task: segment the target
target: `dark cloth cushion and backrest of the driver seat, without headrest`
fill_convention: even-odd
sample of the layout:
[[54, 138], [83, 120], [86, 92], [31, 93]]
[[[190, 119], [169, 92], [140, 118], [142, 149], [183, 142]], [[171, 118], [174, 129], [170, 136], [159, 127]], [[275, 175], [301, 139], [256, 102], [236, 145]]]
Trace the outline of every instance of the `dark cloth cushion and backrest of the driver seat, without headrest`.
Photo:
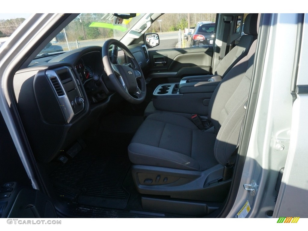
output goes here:
[[237, 147], [256, 43], [257, 40], [248, 55], [225, 75], [213, 92], [208, 115], [213, 129], [201, 131], [181, 115], [149, 115], [128, 146], [131, 162], [195, 171], [203, 171], [218, 163], [225, 165]]

